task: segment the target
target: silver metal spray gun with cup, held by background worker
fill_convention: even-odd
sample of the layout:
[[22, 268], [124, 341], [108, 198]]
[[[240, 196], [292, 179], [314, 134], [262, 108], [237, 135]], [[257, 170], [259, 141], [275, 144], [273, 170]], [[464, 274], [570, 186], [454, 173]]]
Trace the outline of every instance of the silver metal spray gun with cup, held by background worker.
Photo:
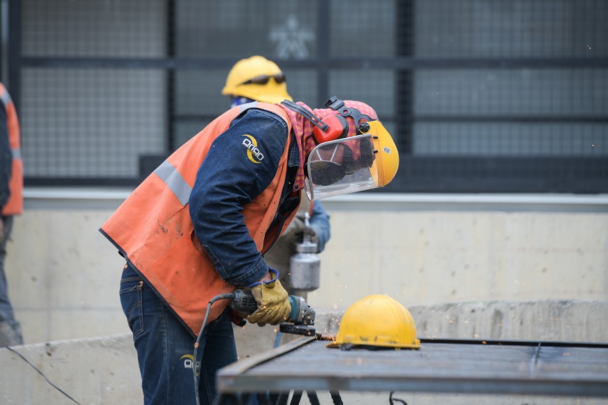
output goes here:
[[295, 244], [295, 255], [290, 258], [291, 288], [299, 291], [314, 291], [319, 288], [321, 259], [317, 255], [317, 243], [311, 241], [313, 228], [310, 214], [304, 213], [304, 239]]

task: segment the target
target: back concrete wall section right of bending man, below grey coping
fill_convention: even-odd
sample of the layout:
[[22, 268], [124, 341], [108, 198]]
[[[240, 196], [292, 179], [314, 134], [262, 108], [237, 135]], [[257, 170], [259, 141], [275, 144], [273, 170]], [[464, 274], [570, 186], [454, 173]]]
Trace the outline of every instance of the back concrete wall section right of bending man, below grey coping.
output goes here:
[[311, 304], [608, 298], [608, 215], [336, 212]]

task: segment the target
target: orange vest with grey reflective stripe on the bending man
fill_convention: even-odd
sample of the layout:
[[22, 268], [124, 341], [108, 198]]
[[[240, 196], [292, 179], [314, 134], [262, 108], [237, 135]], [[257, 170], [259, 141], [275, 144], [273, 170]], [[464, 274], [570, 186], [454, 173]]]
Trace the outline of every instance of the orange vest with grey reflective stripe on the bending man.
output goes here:
[[[288, 133], [291, 132], [291, 122], [281, 107], [258, 103], [257, 108], [277, 114], [286, 121]], [[230, 293], [235, 287], [220, 278], [213, 261], [198, 241], [188, 209], [189, 195], [196, 172], [211, 144], [227, 130], [241, 110], [236, 107], [228, 110], [177, 149], [133, 191], [100, 229], [194, 336], [200, 331], [211, 298]], [[294, 209], [280, 230], [269, 231], [286, 180], [288, 150], [289, 141], [275, 178], [257, 198], [243, 206], [249, 234], [262, 253], [270, 248], [279, 236], [277, 233], [282, 233], [297, 213]], [[227, 304], [227, 300], [214, 303], [208, 322], [218, 318]]]

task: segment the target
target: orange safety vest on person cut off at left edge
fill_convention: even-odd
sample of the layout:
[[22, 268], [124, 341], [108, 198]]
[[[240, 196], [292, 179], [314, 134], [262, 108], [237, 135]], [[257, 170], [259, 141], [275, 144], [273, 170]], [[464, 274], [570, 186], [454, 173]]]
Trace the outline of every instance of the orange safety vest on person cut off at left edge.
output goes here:
[[23, 160], [21, 159], [21, 135], [17, 110], [6, 87], [0, 83], [0, 100], [6, 110], [6, 126], [8, 127], [8, 141], [12, 152], [12, 169], [10, 172], [10, 196], [2, 207], [2, 215], [17, 215], [23, 212]]

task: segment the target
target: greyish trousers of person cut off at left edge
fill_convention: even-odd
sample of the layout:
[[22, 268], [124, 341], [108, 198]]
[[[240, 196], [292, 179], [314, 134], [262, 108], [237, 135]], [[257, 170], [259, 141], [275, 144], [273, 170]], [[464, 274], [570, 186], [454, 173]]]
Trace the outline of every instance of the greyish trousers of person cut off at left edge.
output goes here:
[[6, 241], [12, 230], [13, 216], [2, 216], [3, 235], [0, 234], [0, 347], [22, 345], [21, 327], [15, 320], [15, 313], [8, 299], [8, 284], [4, 273], [4, 259], [6, 259]]

